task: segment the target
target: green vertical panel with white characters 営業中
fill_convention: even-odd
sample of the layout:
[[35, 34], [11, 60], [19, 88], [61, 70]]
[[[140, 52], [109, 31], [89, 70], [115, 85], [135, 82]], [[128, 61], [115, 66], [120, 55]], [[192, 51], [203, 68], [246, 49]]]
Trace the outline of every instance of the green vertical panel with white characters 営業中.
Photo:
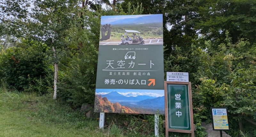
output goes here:
[[188, 85], [167, 84], [168, 127], [190, 130]]

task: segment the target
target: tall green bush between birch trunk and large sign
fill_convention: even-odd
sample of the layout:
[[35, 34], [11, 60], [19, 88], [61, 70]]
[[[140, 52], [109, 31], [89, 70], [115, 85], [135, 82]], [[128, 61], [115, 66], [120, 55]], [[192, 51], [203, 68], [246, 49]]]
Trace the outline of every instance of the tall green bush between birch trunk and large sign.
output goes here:
[[100, 19], [97, 14], [87, 12], [88, 29], [80, 29], [84, 24], [74, 20], [70, 30], [68, 46], [77, 46], [71, 55], [71, 61], [65, 72], [59, 73], [58, 96], [72, 107], [80, 107], [83, 103], [94, 104], [95, 83], [99, 47]]

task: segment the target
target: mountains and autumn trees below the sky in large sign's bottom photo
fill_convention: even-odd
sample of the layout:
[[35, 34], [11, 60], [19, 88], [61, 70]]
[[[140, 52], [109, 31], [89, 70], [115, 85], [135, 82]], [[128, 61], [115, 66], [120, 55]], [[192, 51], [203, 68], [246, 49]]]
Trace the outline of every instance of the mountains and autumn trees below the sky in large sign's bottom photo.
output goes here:
[[[117, 91], [112, 91], [103, 95], [100, 95], [99, 93], [96, 94], [98, 95], [95, 96], [95, 106], [97, 107], [97, 110], [101, 112], [104, 110], [104, 112], [155, 114], [155, 112], [159, 110], [160, 114], [164, 113], [164, 96], [125, 96]], [[96, 100], [103, 101], [97, 102]], [[122, 108], [127, 108], [127, 110], [122, 110]]]

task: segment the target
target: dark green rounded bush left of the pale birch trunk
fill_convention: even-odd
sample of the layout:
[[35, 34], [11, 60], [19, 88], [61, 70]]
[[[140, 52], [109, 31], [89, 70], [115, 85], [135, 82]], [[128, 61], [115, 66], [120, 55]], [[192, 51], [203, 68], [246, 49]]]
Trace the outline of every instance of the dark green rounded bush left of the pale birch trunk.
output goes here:
[[45, 44], [29, 40], [22, 40], [17, 47], [2, 50], [0, 79], [5, 80], [10, 88], [46, 93], [52, 83], [47, 50]]

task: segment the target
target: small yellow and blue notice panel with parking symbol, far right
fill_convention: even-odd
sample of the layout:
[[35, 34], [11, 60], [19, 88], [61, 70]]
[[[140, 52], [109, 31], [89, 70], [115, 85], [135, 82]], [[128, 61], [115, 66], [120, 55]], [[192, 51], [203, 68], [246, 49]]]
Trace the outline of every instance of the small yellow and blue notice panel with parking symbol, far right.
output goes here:
[[212, 129], [229, 130], [227, 107], [211, 107]]

